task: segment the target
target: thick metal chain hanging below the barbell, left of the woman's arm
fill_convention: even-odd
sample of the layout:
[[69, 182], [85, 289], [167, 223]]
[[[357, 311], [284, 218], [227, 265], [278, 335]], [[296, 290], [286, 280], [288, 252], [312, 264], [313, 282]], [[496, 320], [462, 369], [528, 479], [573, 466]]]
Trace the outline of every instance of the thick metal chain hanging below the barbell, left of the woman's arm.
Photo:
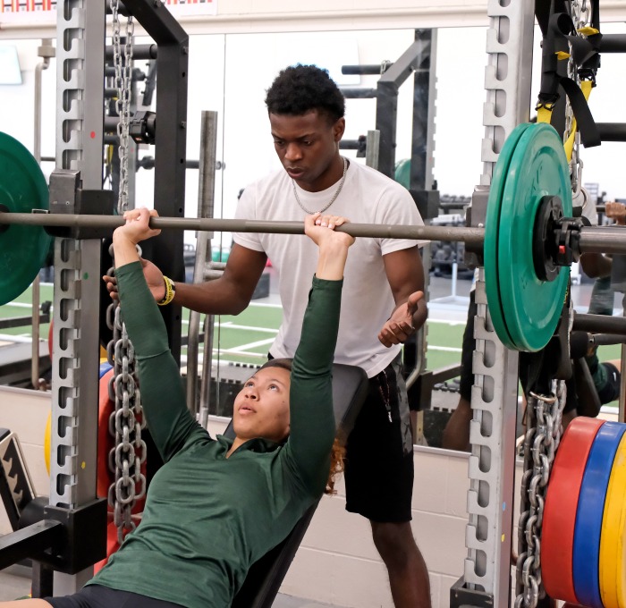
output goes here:
[[[111, 275], [114, 268], [109, 268]], [[109, 398], [115, 409], [109, 417], [109, 433], [115, 445], [108, 454], [109, 469], [115, 481], [108, 490], [108, 503], [114, 510], [117, 539], [135, 528], [132, 507], [146, 494], [146, 477], [141, 464], [146, 460], [146, 443], [141, 439], [145, 418], [141, 409], [140, 389], [135, 376], [135, 351], [120, 317], [119, 304], [106, 308], [106, 325], [113, 330], [113, 340], [106, 346], [106, 358], [114, 366], [109, 380]]]

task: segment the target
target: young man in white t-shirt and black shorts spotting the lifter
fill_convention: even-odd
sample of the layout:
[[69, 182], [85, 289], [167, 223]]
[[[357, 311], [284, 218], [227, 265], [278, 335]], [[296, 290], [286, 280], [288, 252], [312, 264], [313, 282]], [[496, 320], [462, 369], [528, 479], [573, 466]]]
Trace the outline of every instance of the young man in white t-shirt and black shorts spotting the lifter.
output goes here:
[[[382, 173], [339, 154], [345, 103], [326, 70], [288, 67], [267, 90], [275, 151], [283, 169], [246, 187], [236, 217], [302, 221], [321, 211], [355, 224], [423, 224], [410, 194]], [[266, 260], [279, 274], [283, 324], [270, 357], [292, 357], [300, 340], [315, 248], [300, 235], [235, 233], [223, 276], [200, 285], [177, 284], [148, 263], [157, 300], [203, 313], [237, 315], [250, 303]], [[402, 380], [401, 343], [427, 317], [418, 241], [357, 240], [345, 269], [342, 317], [334, 360], [363, 367], [369, 396], [346, 457], [346, 509], [369, 519], [398, 608], [429, 608], [426, 563], [410, 528], [413, 450]], [[166, 294], [172, 294], [165, 298]], [[412, 295], [411, 295], [412, 294]]]

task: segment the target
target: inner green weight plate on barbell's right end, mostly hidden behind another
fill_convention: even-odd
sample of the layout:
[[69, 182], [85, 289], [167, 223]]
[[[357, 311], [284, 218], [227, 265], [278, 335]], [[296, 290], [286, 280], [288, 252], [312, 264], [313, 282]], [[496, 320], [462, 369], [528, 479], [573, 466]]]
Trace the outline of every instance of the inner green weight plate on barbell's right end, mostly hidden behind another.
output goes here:
[[500, 296], [500, 279], [498, 274], [499, 225], [504, 183], [509, 173], [509, 165], [511, 165], [512, 155], [520, 141], [520, 137], [528, 128], [529, 122], [522, 122], [513, 129], [511, 135], [504, 141], [503, 148], [495, 163], [486, 206], [484, 245], [486, 300], [495, 333], [498, 334], [500, 341], [509, 348], [515, 348], [515, 346], [504, 321]]

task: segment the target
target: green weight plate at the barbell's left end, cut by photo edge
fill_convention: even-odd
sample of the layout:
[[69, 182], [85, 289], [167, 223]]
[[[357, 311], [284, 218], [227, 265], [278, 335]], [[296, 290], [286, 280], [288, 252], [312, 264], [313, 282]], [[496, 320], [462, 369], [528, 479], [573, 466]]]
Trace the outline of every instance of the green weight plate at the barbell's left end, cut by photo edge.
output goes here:
[[[0, 205], [12, 213], [48, 208], [46, 178], [37, 161], [17, 139], [2, 132], [0, 167]], [[0, 232], [0, 305], [28, 288], [49, 247], [50, 236], [41, 226], [12, 224]]]

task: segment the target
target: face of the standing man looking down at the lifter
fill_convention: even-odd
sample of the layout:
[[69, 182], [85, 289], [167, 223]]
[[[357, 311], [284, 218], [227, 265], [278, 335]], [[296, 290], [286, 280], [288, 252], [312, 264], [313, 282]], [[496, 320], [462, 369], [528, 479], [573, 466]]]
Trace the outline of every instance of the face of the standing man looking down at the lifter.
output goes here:
[[303, 190], [326, 190], [337, 177], [329, 171], [337, 156], [345, 121], [332, 123], [326, 114], [269, 114], [276, 154], [289, 176]]

